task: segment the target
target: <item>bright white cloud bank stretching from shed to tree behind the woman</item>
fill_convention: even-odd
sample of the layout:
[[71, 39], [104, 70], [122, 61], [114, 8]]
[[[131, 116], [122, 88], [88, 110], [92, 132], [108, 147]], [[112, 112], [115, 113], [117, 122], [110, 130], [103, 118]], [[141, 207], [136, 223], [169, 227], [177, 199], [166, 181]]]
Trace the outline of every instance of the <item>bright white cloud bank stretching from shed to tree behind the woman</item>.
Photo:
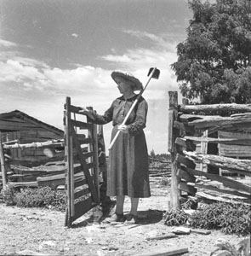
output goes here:
[[[116, 67], [134, 73], [145, 85], [150, 67], [160, 69], [159, 79], [151, 79], [144, 97], [149, 104], [148, 123], [145, 134], [150, 148], [163, 148], [166, 141], [168, 124], [167, 108], [168, 90], [177, 90], [177, 83], [170, 64], [176, 61], [175, 44], [164, 36], [147, 32], [127, 31], [133, 37], [151, 42], [149, 48], [127, 49], [117, 54], [112, 48], [109, 55], [100, 56], [108, 63], [107, 67]], [[73, 34], [72, 34], [73, 36]], [[74, 37], [74, 36], [73, 36]], [[9, 49], [16, 44], [7, 42]], [[1, 44], [0, 42], [0, 44]], [[5, 41], [4, 41], [5, 42]], [[0, 101], [2, 112], [20, 109], [25, 113], [41, 119], [48, 124], [63, 129], [62, 115], [66, 96], [71, 97], [75, 106], [93, 106], [98, 113], [104, 113], [111, 102], [119, 96], [114, 90], [116, 84], [111, 79], [111, 69], [93, 66], [75, 65], [74, 68], [50, 67], [48, 63], [21, 55], [17, 51], [0, 53]], [[160, 122], [161, 120], [161, 122]], [[164, 124], [164, 125], [163, 125]], [[111, 125], [105, 125], [106, 144], [110, 140]], [[164, 134], [164, 137], [157, 137]], [[155, 138], [154, 142], [152, 137]]]

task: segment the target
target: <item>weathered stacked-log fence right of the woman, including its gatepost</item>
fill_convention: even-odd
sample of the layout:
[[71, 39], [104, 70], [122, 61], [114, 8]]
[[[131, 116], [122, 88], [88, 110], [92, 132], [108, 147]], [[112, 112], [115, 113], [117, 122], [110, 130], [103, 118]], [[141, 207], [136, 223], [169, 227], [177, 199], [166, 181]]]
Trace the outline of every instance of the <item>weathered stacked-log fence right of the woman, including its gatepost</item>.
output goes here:
[[250, 204], [251, 104], [178, 106], [168, 93], [171, 207], [187, 198]]

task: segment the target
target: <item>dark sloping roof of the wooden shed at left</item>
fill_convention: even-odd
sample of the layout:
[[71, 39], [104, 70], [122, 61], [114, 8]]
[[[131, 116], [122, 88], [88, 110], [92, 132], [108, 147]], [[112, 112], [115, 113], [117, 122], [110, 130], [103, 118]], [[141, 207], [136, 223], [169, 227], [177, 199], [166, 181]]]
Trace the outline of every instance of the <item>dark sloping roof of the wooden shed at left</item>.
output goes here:
[[45, 130], [52, 131], [60, 136], [64, 135], [64, 131], [59, 128], [35, 119], [20, 110], [0, 113], [0, 131], [26, 131], [40, 127]]

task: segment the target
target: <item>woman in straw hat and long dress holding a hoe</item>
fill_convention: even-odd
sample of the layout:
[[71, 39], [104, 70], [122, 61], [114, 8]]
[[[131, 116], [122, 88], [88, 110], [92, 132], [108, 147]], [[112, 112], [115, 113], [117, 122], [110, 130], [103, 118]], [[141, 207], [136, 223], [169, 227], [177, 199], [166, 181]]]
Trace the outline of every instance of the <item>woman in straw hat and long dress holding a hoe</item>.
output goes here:
[[[117, 88], [123, 96], [112, 102], [111, 107], [103, 115], [94, 111], [88, 112], [95, 124], [104, 125], [112, 121], [111, 140], [117, 131], [121, 131], [116, 143], [109, 153], [109, 167], [107, 172], [108, 196], [117, 196], [116, 211], [110, 222], [123, 222], [123, 203], [125, 195], [131, 199], [131, 210], [126, 223], [137, 222], [137, 209], [140, 197], [149, 197], [148, 152], [145, 143], [145, 128], [147, 102], [140, 96], [134, 110], [130, 113], [125, 125], [122, 125], [130, 107], [137, 95], [134, 90], [141, 90], [139, 79], [128, 73], [112, 72], [111, 78], [117, 83]], [[83, 113], [88, 111], [83, 108]]]

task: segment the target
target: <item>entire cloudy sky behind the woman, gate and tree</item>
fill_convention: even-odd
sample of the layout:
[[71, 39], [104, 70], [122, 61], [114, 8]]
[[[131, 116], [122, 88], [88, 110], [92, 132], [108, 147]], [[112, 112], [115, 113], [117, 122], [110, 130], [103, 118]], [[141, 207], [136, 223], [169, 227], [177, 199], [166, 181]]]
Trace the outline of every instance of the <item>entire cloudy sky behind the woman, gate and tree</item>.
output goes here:
[[[0, 113], [18, 109], [63, 129], [66, 96], [104, 113], [121, 96], [111, 72], [145, 86], [149, 153], [168, 153], [170, 65], [192, 18], [187, 0], [0, 0]], [[181, 96], [179, 92], [179, 102]], [[111, 124], [104, 125], [106, 148]]]

